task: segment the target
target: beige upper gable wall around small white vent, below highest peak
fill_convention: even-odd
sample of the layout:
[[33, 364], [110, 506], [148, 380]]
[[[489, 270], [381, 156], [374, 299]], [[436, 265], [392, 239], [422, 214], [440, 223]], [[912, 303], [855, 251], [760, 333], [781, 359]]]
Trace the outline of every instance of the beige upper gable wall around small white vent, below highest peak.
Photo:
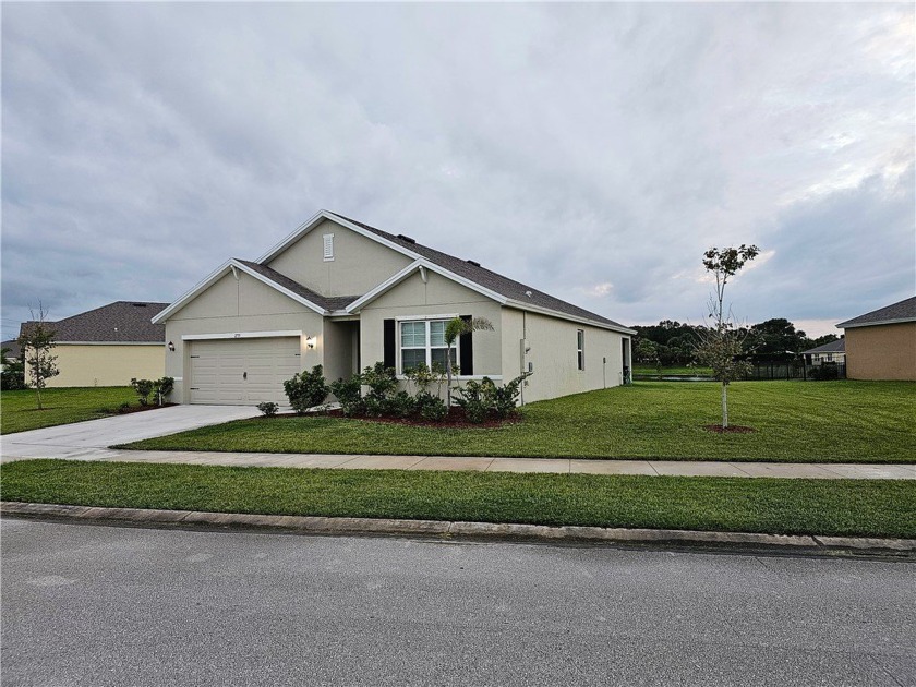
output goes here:
[[[334, 260], [324, 260], [324, 234], [334, 234]], [[268, 263], [323, 296], [362, 296], [407, 267], [406, 255], [325, 220]]]

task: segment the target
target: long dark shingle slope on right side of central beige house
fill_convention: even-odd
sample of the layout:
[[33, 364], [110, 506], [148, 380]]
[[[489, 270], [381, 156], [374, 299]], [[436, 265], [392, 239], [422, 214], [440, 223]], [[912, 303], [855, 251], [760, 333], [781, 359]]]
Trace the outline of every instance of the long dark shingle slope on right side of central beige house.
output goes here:
[[[549, 293], [539, 291], [538, 289], [526, 286], [519, 281], [504, 277], [503, 275], [496, 274], [485, 267], [481, 267], [477, 263], [471, 263], [466, 260], [461, 260], [460, 257], [455, 257], [454, 255], [448, 255], [447, 253], [422, 245], [403, 234], [396, 236], [388, 233], [387, 231], [376, 229], [375, 227], [357, 221], [355, 219], [350, 219], [343, 215], [339, 215], [337, 213], [332, 214], [336, 215], [340, 219], [345, 219], [353, 225], [357, 225], [366, 231], [371, 231], [375, 236], [382, 237], [391, 243], [407, 249], [408, 251], [412, 251], [418, 255], [425, 257], [431, 263], [434, 263], [439, 267], [444, 267], [459, 277], [465, 277], [466, 279], [490, 289], [491, 291], [495, 291], [505, 298], [520, 301], [521, 303], [530, 303], [531, 305], [538, 308], [546, 308], [547, 310], [554, 310], [575, 317], [582, 317], [584, 320], [592, 320], [615, 327], [626, 328], [624, 325], [614, 322], [613, 320], [608, 320], [607, 317], [603, 317], [602, 315], [584, 310], [583, 308], [579, 308], [578, 305], [574, 305], [572, 303], [562, 301], [558, 298], [554, 298]], [[529, 293], [530, 296], [528, 296]]]

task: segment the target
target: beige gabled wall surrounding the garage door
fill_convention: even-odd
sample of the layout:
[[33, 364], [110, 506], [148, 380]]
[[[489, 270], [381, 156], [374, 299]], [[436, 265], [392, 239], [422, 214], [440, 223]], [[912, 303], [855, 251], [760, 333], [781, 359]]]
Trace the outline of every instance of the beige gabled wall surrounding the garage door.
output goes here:
[[[324, 317], [287, 298], [254, 277], [231, 273], [197, 296], [166, 322], [166, 341], [174, 351], [166, 350], [166, 375], [174, 377], [174, 402], [190, 399], [190, 346], [181, 337], [191, 334], [234, 334], [250, 332], [302, 332], [300, 341], [303, 370], [324, 364]], [[315, 337], [315, 348], [305, 339]], [[134, 375], [131, 375], [134, 376]]]

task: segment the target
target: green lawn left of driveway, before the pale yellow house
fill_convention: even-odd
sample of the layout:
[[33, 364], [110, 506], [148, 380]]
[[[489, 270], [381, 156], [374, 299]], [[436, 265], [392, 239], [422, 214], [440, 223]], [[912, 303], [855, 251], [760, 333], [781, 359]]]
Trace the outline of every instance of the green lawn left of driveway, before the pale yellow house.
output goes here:
[[41, 391], [44, 410], [36, 410], [35, 390], [0, 393], [0, 433], [50, 427], [112, 414], [123, 402], [136, 402], [129, 386], [60, 388]]

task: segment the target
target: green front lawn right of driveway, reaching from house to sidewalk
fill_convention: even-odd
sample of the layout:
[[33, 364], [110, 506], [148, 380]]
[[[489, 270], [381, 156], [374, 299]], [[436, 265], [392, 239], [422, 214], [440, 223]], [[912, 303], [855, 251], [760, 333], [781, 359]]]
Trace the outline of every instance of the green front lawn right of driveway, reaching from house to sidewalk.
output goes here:
[[715, 383], [643, 382], [531, 403], [496, 430], [439, 430], [338, 418], [253, 419], [128, 448], [261, 453], [401, 454], [916, 462], [916, 384], [742, 382], [730, 386], [733, 424], [714, 434]]

